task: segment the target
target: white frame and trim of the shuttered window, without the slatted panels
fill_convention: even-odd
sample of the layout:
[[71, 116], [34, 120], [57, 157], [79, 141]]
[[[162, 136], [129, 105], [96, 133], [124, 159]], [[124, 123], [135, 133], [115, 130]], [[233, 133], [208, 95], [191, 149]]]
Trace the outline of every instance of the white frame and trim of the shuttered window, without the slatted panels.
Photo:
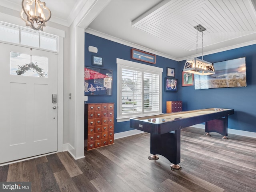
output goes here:
[[[143, 72], [152, 72], [154, 74], [159, 75], [159, 110], [158, 112], [144, 112], [142, 111], [142, 114], [139, 115], [122, 115], [122, 91], [117, 92], [117, 122], [123, 122], [123, 121], [129, 121], [131, 117], [138, 117], [138, 116], [149, 116], [149, 115], [156, 115], [156, 114], [162, 114], [162, 72], [163, 69], [141, 64], [137, 62], [132, 62], [128, 60], [123, 60], [120, 58], [116, 58], [117, 63], [117, 90], [122, 90], [122, 68], [133, 68], [134, 70], [141, 70]], [[143, 81], [143, 75], [142, 75], [142, 81]], [[142, 98], [143, 98], [143, 84], [142, 84]], [[142, 109], [143, 109], [143, 103], [142, 103]]]

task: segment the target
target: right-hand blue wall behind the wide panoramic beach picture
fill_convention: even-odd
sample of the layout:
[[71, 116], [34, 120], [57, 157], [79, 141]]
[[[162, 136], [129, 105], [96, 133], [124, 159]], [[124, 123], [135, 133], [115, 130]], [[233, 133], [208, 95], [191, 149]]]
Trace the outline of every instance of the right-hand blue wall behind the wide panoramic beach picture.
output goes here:
[[[256, 132], [256, 44], [206, 55], [204, 60], [214, 63], [244, 56], [247, 87], [194, 90], [193, 86], [180, 86], [179, 98], [184, 103], [183, 109], [232, 108], [235, 114], [229, 116], [228, 128]], [[179, 62], [180, 71], [184, 64], [185, 61]]]

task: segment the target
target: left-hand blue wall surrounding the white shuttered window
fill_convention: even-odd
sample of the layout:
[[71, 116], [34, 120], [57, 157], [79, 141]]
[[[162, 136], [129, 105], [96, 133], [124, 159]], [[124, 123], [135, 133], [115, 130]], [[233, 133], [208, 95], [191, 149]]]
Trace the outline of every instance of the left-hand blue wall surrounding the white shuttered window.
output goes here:
[[[98, 53], [92, 53], [88, 51], [88, 46], [94, 46], [98, 48]], [[156, 64], [149, 64], [147, 62], [142, 62], [139, 60], [135, 60], [131, 58], [131, 49], [132, 47], [119, 44], [110, 40], [106, 40], [104, 38], [100, 38], [98, 36], [94, 36], [92, 34], [85, 33], [85, 63], [84, 66], [96, 67], [92, 66], [92, 55], [100, 56], [103, 58], [103, 67], [104, 69], [113, 71], [113, 84], [112, 84], [112, 96], [88, 96], [88, 102], [86, 103], [115, 103], [115, 122], [114, 122], [114, 132], [119, 133], [123, 131], [132, 130], [130, 128], [130, 122], [116, 122], [117, 117], [117, 64], [116, 58], [129, 60], [133, 62], [138, 62], [147, 65], [153, 65], [156, 67], [163, 68], [163, 78], [162, 82], [164, 82], [164, 78], [166, 77], [166, 69], [167, 66], [171, 68], [178, 68], [178, 62], [174, 60], [170, 60], [161, 56], [156, 56]], [[101, 67], [98, 67], [101, 68]], [[175, 78], [177, 75], [175, 76]], [[164, 84], [162, 86], [163, 96], [162, 96], [162, 112], [166, 112], [166, 101], [168, 100], [178, 100], [178, 92], [164, 92]]]

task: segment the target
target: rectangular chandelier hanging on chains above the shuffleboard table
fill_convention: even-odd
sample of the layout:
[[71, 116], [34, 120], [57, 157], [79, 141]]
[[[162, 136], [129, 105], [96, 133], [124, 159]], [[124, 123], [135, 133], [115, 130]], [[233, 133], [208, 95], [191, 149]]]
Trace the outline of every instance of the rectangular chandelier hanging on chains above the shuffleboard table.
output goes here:
[[[211, 75], [215, 74], [212, 63], [204, 61], [203, 52], [203, 31], [206, 30], [201, 25], [194, 26], [196, 31], [196, 57], [186, 60], [183, 71], [188, 73], [198, 74], [198, 75]], [[198, 31], [202, 32], [202, 59], [197, 58], [197, 46], [198, 46]]]

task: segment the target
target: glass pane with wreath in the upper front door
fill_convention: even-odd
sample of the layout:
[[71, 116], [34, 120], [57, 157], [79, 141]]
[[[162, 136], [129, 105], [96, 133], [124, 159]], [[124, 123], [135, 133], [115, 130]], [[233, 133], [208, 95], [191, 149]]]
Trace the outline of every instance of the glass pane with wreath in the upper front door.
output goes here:
[[34, 77], [47, 77], [48, 58], [10, 52], [10, 74]]

